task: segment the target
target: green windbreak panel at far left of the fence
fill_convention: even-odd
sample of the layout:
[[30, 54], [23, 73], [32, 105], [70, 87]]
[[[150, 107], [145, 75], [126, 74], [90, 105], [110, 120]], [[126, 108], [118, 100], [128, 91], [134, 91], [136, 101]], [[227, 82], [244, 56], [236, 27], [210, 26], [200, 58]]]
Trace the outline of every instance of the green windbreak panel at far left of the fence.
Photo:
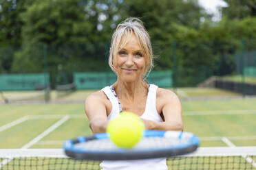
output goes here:
[[41, 90], [49, 84], [49, 75], [5, 74], [0, 75], [0, 90]]

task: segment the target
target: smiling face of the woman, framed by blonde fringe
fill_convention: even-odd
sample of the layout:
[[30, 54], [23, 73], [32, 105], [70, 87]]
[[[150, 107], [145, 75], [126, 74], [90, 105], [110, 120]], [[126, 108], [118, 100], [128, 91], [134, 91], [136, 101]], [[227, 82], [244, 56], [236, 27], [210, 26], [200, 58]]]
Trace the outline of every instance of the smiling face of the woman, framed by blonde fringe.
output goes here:
[[114, 56], [114, 69], [122, 81], [135, 82], [141, 80], [145, 65], [145, 56], [136, 36], [132, 34], [126, 45]]

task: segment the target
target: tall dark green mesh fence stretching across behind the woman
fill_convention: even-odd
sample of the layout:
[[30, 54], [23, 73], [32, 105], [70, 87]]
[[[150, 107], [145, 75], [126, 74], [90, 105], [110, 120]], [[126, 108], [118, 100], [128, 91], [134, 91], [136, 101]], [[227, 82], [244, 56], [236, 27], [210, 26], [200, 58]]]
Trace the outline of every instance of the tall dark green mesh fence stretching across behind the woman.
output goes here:
[[[155, 66], [147, 81], [164, 88], [198, 86], [212, 76], [255, 77], [256, 40], [152, 41], [152, 47]], [[73, 82], [78, 89], [101, 88], [116, 81], [107, 62], [109, 42], [23, 45], [0, 51], [0, 74], [47, 73], [52, 89]]]

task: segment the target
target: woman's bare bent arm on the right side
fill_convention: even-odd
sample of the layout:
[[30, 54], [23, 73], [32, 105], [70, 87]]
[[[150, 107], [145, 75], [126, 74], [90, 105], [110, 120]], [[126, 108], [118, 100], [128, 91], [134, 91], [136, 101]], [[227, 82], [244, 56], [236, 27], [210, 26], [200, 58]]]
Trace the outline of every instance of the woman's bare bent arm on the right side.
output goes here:
[[164, 115], [164, 122], [142, 119], [148, 130], [183, 130], [180, 99], [171, 90], [158, 88], [156, 97], [158, 112]]

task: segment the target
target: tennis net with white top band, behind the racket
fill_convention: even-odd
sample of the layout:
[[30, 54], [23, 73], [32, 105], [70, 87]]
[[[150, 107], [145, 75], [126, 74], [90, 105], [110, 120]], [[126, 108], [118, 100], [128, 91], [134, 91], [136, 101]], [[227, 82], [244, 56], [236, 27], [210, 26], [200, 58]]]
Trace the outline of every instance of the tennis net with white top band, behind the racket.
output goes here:
[[[0, 149], [1, 170], [100, 169], [100, 161], [74, 160], [63, 149]], [[169, 169], [256, 169], [256, 147], [200, 147], [193, 154], [167, 158]]]

